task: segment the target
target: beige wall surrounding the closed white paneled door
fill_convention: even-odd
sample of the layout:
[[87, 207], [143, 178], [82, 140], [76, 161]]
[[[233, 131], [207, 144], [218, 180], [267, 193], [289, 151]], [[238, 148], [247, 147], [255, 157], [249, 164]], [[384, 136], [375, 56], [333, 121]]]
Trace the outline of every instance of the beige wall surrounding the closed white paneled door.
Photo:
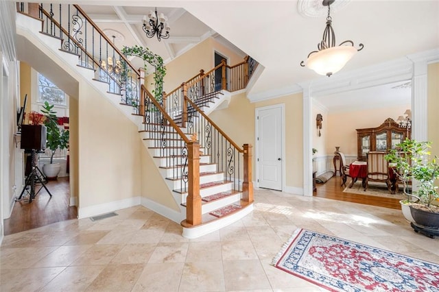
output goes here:
[[303, 158], [302, 158], [302, 94], [287, 95], [268, 101], [250, 104], [246, 94], [233, 96], [228, 108], [217, 110], [209, 117], [230, 136], [238, 145], [250, 143], [253, 145], [253, 178], [255, 180], [256, 149], [254, 145], [254, 111], [256, 108], [285, 105], [285, 185], [302, 188]]

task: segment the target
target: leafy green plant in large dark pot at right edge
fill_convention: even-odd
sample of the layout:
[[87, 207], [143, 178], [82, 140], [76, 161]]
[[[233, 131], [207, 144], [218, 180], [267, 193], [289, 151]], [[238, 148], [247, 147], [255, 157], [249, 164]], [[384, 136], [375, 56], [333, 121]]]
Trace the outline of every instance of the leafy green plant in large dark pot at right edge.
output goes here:
[[[439, 198], [435, 186], [435, 181], [439, 178], [439, 163], [436, 156], [433, 159], [429, 157], [430, 147], [431, 142], [418, 142], [407, 138], [403, 143], [396, 145], [396, 149], [391, 149], [385, 159], [393, 167], [398, 180], [403, 182], [403, 192], [407, 199], [401, 200], [401, 208], [404, 213], [407, 212], [408, 206], [412, 216], [406, 219], [427, 229], [436, 228], [439, 232], [439, 206], [434, 204]], [[416, 182], [418, 187], [412, 194], [407, 191], [409, 182]]]

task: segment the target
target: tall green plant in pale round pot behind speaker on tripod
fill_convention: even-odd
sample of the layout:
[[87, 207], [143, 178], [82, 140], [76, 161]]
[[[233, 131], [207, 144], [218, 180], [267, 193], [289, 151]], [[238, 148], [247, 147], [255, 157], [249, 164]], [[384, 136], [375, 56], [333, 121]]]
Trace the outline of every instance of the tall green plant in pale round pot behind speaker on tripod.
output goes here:
[[41, 112], [45, 115], [44, 125], [47, 128], [47, 144], [46, 149], [50, 151], [50, 163], [43, 165], [43, 172], [47, 179], [56, 179], [60, 173], [61, 165], [54, 163], [54, 155], [57, 149], [66, 149], [69, 146], [69, 130], [60, 129], [58, 125], [58, 117], [53, 110], [54, 105], [45, 101]]

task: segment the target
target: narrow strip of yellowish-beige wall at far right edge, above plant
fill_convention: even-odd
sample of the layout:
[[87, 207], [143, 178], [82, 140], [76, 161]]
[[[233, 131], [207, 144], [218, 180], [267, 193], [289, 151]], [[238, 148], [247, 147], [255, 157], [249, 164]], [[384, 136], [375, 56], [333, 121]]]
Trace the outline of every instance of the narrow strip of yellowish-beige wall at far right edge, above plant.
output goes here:
[[428, 140], [433, 143], [431, 147], [431, 155], [439, 156], [439, 62], [429, 64], [427, 74], [427, 136]]

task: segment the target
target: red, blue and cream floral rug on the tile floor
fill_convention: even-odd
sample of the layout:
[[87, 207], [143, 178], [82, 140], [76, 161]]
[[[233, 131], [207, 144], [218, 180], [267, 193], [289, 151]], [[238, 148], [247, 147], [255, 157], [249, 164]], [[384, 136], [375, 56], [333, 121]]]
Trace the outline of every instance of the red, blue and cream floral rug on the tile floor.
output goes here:
[[305, 229], [273, 260], [329, 291], [439, 291], [439, 265]]

